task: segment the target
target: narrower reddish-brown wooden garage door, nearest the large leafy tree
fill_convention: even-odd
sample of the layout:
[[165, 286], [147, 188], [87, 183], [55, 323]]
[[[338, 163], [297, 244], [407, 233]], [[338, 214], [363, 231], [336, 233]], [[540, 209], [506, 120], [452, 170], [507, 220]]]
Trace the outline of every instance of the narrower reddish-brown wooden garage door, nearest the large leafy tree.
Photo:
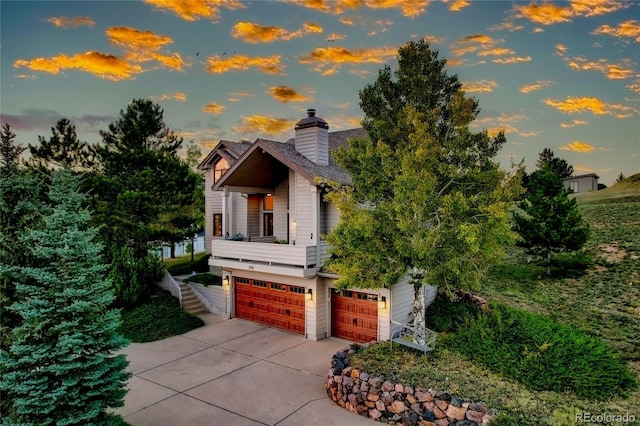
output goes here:
[[331, 289], [331, 335], [354, 342], [378, 340], [378, 296]]

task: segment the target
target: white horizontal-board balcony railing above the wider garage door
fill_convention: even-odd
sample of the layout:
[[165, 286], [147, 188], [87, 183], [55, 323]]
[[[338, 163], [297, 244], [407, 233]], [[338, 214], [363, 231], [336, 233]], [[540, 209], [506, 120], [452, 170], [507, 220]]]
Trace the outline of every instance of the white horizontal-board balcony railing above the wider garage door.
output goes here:
[[316, 246], [215, 240], [211, 245], [211, 264], [225, 266], [228, 262], [296, 268], [310, 271], [316, 268]]

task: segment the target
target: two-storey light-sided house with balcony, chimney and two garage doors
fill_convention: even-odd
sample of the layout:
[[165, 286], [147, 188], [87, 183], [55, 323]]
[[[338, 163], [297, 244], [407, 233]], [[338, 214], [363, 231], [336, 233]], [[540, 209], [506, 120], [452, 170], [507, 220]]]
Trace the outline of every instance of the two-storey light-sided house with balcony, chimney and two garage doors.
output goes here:
[[350, 183], [331, 152], [363, 129], [329, 132], [313, 109], [287, 142], [220, 143], [202, 161], [206, 174], [209, 265], [223, 277], [224, 309], [238, 317], [304, 335], [387, 340], [412, 312], [413, 287], [336, 289], [322, 268], [321, 235], [337, 225], [320, 179]]

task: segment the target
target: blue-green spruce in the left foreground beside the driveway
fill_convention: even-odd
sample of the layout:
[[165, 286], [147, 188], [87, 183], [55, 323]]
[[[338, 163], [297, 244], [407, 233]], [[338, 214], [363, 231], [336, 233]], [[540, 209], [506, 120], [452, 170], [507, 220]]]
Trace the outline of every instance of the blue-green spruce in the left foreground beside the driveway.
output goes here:
[[[105, 424], [126, 393], [126, 345], [116, 333], [120, 313], [105, 279], [107, 265], [82, 208], [79, 182], [68, 170], [53, 174], [46, 212], [22, 243], [38, 266], [21, 266], [10, 309], [22, 317], [13, 342], [0, 352], [0, 388], [11, 401], [7, 424]], [[121, 419], [120, 419], [121, 420]]]

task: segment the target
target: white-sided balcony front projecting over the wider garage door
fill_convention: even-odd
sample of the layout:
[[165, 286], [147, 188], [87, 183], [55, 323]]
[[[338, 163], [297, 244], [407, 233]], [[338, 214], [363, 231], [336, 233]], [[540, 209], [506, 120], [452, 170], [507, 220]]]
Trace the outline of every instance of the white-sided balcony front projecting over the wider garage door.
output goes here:
[[309, 278], [316, 274], [316, 246], [214, 240], [209, 264]]

